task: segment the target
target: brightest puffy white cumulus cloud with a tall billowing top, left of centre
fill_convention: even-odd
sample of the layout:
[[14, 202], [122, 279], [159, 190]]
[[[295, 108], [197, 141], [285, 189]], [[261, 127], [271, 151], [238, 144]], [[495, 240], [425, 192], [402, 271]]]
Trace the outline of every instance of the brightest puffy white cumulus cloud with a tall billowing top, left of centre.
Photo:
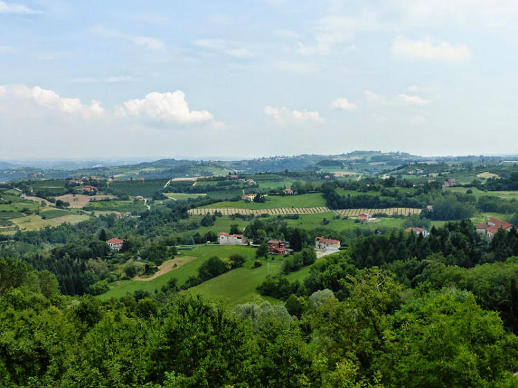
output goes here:
[[125, 101], [123, 106], [122, 113], [125, 115], [146, 116], [170, 122], [213, 122], [214, 119], [207, 110], [189, 110], [185, 94], [181, 90], [173, 93], [148, 93], [144, 99]]

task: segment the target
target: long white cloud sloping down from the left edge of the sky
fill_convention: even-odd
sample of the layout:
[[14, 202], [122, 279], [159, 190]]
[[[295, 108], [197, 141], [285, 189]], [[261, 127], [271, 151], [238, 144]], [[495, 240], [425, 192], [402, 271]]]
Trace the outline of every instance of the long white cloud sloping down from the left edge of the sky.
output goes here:
[[104, 115], [104, 108], [99, 101], [92, 100], [90, 105], [85, 105], [78, 98], [61, 97], [55, 91], [42, 89], [39, 86], [34, 88], [25, 85], [4, 87], [3, 94], [10, 94], [18, 99], [29, 99], [44, 108], [59, 110], [70, 115], [79, 114], [86, 118]]

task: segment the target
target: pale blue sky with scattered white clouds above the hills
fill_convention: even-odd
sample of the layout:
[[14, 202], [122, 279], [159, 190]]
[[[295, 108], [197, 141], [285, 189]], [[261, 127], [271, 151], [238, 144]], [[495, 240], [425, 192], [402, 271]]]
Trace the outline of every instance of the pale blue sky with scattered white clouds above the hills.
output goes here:
[[0, 159], [518, 153], [518, 1], [0, 0]]

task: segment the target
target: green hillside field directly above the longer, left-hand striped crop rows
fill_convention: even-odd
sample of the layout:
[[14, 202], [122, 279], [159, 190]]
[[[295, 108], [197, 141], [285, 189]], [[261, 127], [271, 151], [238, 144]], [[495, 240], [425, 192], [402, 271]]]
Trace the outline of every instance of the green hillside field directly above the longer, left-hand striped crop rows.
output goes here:
[[202, 206], [202, 208], [247, 208], [252, 210], [262, 210], [269, 208], [309, 208], [325, 206], [325, 199], [321, 193], [303, 195], [268, 195], [266, 202], [216, 202], [215, 204]]

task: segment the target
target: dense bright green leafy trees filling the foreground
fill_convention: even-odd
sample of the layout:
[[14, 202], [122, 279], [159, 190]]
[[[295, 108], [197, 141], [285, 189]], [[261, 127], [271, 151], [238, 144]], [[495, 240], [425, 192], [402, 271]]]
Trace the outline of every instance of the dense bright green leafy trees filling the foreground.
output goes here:
[[76, 300], [12, 259], [0, 279], [4, 387], [518, 386], [518, 338], [483, 295], [410, 289], [376, 266], [338, 282], [345, 298], [323, 289], [232, 311], [174, 291]]

